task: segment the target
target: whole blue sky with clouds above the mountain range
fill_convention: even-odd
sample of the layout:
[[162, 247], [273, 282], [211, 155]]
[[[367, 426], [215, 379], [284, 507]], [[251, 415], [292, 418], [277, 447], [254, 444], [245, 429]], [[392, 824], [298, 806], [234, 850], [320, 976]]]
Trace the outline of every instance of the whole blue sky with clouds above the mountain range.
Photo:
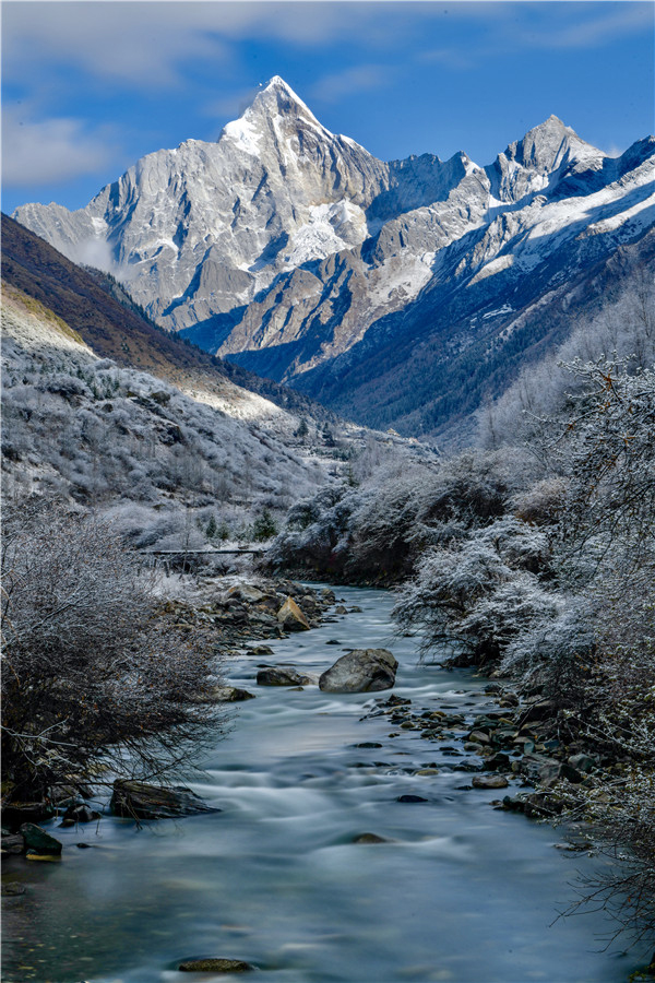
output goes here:
[[3, 211], [80, 208], [140, 156], [216, 140], [282, 75], [383, 159], [490, 163], [551, 112], [608, 153], [654, 130], [652, 2], [2, 4]]

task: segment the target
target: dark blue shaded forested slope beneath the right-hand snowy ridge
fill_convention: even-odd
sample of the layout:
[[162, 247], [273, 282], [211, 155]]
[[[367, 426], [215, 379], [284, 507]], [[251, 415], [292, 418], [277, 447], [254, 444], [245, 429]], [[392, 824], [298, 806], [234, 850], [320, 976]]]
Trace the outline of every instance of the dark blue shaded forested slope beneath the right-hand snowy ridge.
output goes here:
[[[596, 253], [597, 238], [576, 244], [582, 262], [568, 274], [564, 244], [544, 263], [550, 286], [536, 294], [532, 277], [505, 289], [502, 272], [462, 291], [434, 285], [380, 319], [359, 345], [295, 384], [337, 411], [347, 406], [353, 418], [371, 426], [393, 426], [440, 445], [466, 443], [476, 410], [501, 394], [523, 366], [561, 344], [581, 320], [602, 312], [632, 269], [653, 280], [653, 227], [609, 254]], [[469, 293], [484, 315], [471, 318]]]

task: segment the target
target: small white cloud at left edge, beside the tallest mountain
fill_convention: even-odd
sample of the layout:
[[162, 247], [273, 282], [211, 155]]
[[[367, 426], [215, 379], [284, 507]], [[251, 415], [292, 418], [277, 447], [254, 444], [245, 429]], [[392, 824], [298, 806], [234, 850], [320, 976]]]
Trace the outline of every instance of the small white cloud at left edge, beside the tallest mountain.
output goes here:
[[78, 119], [23, 119], [15, 109], [2, 116], [2, 180], [7, 187], [55, 183], [93, 174], [115, 155], [103, 134], [85, 132]]

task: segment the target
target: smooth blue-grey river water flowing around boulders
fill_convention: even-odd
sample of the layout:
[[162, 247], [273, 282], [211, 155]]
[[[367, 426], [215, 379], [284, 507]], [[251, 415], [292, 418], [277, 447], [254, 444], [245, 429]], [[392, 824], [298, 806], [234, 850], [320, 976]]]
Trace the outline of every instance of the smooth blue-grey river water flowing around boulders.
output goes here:
[[[392, 636], [389, 594], [336, 590], [362, 612], [273, 642], [266, 661], [322, 671], [342, 654], [332, 639], [384, 646], [413, 710], [492, 706], [481, 680], [421, 665], [416, 642]], [[602, 913], [557, 920], [575, 872], [596, 861], [488, 805], [504, 793], [463, 787], [471, 775], [443, 750], [457, 742], [392, 738], [388, 718], [360, 720], [389, 694], [257, 687], [262, 661], [230, 664], [230, 682], [257, 699], [192, 785], [223, 812], [141, 831], [114, 818], [57, 829], [60, 864], [5, 862], [4, 877], [27, 886], [4, 903], [5, 983], [228, 979], [177, 972], [206, 956], [252, 962], [271, 983], [617, 983], [647, 961], [603, 951]], [[414, 773], [426, 767], [439, 773]], [[389, 842], [353, 842], [365, 832]], [[82, 841], [94, 849], [74, 849]]]

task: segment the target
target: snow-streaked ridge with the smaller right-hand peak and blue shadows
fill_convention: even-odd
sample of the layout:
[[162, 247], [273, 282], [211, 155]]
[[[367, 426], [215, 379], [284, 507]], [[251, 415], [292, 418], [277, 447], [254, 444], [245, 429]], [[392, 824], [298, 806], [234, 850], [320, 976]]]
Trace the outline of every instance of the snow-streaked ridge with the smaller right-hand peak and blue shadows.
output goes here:
[[[561, 281], [609, 256], [655, 221], [655, 143], [642, 141], [610, 161], [550, 119], [531, 131], [526, 149], [513, 145], [492, 167], [472, 168], [445, 201], [391, 220], [361, 247], [311, 271], [279, 277], [219, 353], [332, 405], [302, 374], [321, 365], [329, 374], [336, 356], [365, 339], [373, 344], [371, 325], [383, 321], [386, 330], [390, 315], [425, 293], [441, 304], [456, 293], [457, 327], [468, 330], [491, 310], [514, 310], [516, 291], [534, 300], [553, 276]], [[516, 163], [524, 159], [529, 169]]]

